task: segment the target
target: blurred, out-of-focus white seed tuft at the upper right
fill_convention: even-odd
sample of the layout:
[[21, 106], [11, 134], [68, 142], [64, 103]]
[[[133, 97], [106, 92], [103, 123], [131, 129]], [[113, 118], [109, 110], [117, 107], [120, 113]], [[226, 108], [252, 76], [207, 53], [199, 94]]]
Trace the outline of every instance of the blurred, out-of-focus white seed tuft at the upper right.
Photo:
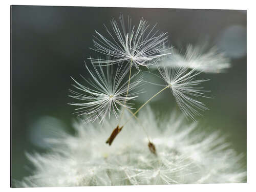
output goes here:
[[[231, 67], [230, 59], [217, 47], [209, 47], [207, 43], [188, 45], [183, 55], [177, 49], [169, 51], [171, 55], [165, 56], [157, 65], [166, 67], [188, 67], [204, 73], [222, 73]], [[164, 52], [166, 53], [166, 52]], [[154, 66], [152, 66], [155, 68]]]

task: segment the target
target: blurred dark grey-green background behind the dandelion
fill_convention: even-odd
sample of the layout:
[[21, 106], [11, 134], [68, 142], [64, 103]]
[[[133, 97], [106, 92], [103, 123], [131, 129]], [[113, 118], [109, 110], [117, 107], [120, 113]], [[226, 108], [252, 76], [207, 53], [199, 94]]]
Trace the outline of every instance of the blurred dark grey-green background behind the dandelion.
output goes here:
[[[72, 132], [73, 102], [68, 97], [70, 76], [81, 82], [88, 77], [83, 61], [97, 57], [93, 47], [95, 29], [105, 35], [103, 24], [111, 18], [130, 16], [137, 25], [143, 17], [148, 24], [168, 32], [170, 44], [184, 49], [207, 37], [225, 51], [232, 68], [227, 73], [201, 74], [209, 96], [201, 99], [209, 111], [198, 117], [205, 130], [221, 130], [238, 153], [246, 155], [246, 11], [152, 8], [100, 8], [12, 6], [12, 178], [21, 180], [31, 173], [26, 152], [45, 152], [42, 138], [54, 126]], [[154, 77], [145, 76], [154, 82]], [[137, 106], [150, 98], [156, 86], [146, 87]], [[151, 102], [161, 111], [178, 109], [169, 92]], [[244, 159], [246, 166], [246, 158]]]

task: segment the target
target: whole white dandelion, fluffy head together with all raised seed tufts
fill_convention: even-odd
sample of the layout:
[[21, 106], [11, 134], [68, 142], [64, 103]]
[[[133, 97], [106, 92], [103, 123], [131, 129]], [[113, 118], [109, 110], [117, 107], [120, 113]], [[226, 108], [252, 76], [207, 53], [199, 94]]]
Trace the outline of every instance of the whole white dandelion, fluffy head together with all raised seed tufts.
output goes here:
[[[165, 47], [166, 33], [159, 34], [144, 19], [137, 28], [130, 18], [127, 28], [122, 15], [119, 20], [118, 24], [112, 19], [112, 30], [106, 28], [109, 37], [96, 31], [93, 50], [107, 55], [106, 59], [91, 58], [91, 66], [86, 65], [90, 77], [83, 77], [86, 84], [73, 79], [75, 89], [70, 90], [70, 97], [76, 101], [70, 104], [77, 107], [78, 116], [84, 117], [74, 123], [76, 134], [59, 130], [57, 137], [46, 139], [48, 153], [27, 154], [34, 165], [33, 175], [16, 182], [16, 186], [245, 181], [243, 155], [234, 152], [219, 132], [202, 132], [197, 123], [186, 124], [184, 118], [195, 120], [200, 111], [207, 110], [196, 99], [205, 97], [206, 91], [198, 86], [206, 80], [197, 80], [196, 76], [223, 72], [230, 67], [229, 60], [216, 48], [206, 50], [204, 46], [189, 46], [183, 56]], [[133, 66], [155, 66], [165, 81], [165, 85], [153, 83], [164, 88], [134, 113], [131, 101], [141, 93], [136, 89], [143, 81], [140, 70], [132, 74]], [[167, 88], [185, 116], [172, 113], [158, 120], [150, 108], [135, 116]], [[115, 139], [111, 147], [105, 144], [110, 134], [107, 143], [111, 145]]]

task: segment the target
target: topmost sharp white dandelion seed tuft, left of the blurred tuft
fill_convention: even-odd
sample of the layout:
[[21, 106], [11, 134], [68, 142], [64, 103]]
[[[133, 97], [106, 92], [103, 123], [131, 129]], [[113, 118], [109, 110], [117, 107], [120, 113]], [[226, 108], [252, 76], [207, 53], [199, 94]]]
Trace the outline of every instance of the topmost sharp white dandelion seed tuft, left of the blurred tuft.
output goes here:
[[95, 36], [95, 40], [93, 40], [95, 46], [93, 50], [110, 55], [112, 59], [92, 59], [95, 63], [104, 62], [106, 65], [112, 65], [120, 61], [129, 61], [136, 68], [138, 66], [148, 67], [153, 65], [161, 56], [170, 54], [161, 54], [165, 51], [162, 45], [167, 41], [167, 36], [166, 33], [158, 34], [158, 31], [154, 31], [156, 25], [150, 28], [150, 25], [147, 25], [147, 22], [142, 18], [135, 29], [135, 26], [132, 26], [132, 20], [128, 17], [127, 30], [123, 16], [120, 15], [119, 19], [120, 27], [116, 20], [111, 20], [113, 32], [105, 26], [109, 38], [96, 31], [99, 37]]

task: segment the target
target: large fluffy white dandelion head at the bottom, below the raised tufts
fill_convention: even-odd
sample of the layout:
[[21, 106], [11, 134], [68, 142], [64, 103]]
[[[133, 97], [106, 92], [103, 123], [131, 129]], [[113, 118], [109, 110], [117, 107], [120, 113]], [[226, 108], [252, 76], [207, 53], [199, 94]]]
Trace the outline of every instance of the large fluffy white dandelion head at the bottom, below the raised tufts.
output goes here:
[[[237, 183], [246, 181], [238, 155], [219, 132], [201, 132], [197, 124], [185, 124], [172, 113], [158, 121], [147, 108], [139, 116], [147, 127], [157, 156], [147, 148], [142, 127], [133, 120], [111, 146], [105, 140], [117, 121], [76, 122], [76, 134], [48, 139], [50, 152], [27, 154], [34, 164], [33, 176], [17, 182], [18, 187], [140, 185], [187, 183]], [[113, 118], [115, 119], [115, 118]], [[127, 119], [124, 117], [124, 120]]]

